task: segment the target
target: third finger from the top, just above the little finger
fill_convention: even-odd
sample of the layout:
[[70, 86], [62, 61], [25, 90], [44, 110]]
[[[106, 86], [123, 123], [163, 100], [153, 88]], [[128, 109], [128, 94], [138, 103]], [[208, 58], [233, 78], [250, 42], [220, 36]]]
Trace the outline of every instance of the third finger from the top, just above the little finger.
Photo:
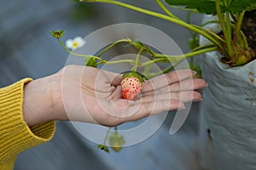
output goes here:
[[174, 92], [170, 94], [157, 94], [157, 95], [148, 95], [143, 96], [142, 103], [154, 102], [154, 101], [163, 101], [163, 100], [180, 100], [182, 102], [189, 101], [201, 101], [201, 94], [196, 91], [183, 91], [183, 92]]

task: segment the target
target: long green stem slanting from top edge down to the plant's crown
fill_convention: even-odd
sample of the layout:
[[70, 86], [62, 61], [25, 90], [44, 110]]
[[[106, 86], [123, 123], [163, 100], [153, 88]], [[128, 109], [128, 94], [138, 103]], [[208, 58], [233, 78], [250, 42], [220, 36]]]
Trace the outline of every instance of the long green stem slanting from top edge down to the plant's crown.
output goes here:
[[119, 5], [119, 6], [122, 6], [122, 7], [125, 7], [125, 8], [130, 8], [132, 10], [141, 12], [143, 14], [148, 14], [148, 15], [160, 18], [162, 20], [168, 20], [168, 21], [173, 22], [177, 25], [185, 27], [185, 28], [189, 29], [190, 31], [195, 31], [198, 34], [201, 34], [203, 37], [206, 37], [208, 40], [210, 40], [212, 43], [217, 45], [219, 48], [222, 48], [221, 44], [216, 39], [212, 38], [212, 36], [209, 35], [207, 32], [201, 31], [200, 29], [196, 28], [195, 26], [189, 25], [188, 23], [184, 22], [183, 20], [172, 18], [172, 17], [170, 17], [166, 14], [156, 13], [154, 11], [150, 11], [150, 10], [147, 10], [147, 9], [144, 9], [144, 8], [138, 8], [136, 6], [133, 6], [133, 5], [130, 5], [130, 4], [127, 4], [127, 3], [121, 3], [121, 2], [118, 2], [118, 1], [114, 1], [114, 0], [93, 0], [93, 1], [82, 0], [82, 1], [83, 2], [95, 2], [95, 3], [112, 3], [112, 4]]

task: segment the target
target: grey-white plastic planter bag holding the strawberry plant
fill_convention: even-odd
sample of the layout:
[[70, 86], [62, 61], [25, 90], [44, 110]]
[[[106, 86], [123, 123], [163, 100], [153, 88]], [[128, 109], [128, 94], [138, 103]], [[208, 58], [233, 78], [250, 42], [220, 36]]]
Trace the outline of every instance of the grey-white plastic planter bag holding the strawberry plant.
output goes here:
[[201, 166], [207, 170], [256, 169], [256, 60], [230, 68], [218, 52], [202, 57], [209, 86], [201, 102]]

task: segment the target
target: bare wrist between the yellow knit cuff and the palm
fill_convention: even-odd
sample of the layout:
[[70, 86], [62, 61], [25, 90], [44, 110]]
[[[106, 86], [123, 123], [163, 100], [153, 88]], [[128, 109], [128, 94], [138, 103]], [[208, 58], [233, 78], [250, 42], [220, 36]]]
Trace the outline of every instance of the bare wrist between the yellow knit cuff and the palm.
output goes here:
[[26, 83], [23, 118], [28, 126], [59, 120], [60, 113], [61, 81], [55, 75]]

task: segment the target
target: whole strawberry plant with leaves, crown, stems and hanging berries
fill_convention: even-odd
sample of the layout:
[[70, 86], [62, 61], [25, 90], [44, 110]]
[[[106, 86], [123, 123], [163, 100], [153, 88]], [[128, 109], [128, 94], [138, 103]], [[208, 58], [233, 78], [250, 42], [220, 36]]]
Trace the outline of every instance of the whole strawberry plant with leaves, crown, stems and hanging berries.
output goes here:
[[[107, 48], [102, 49], [96, 55], [84, 55], [76, 54], [69, 50], [64, 43], [61, 42], [61, 37], [64, 31], [51, 31], [53, 37], [55, 37], [61, 46], [69, 54], [73, 54], [85, 59], [84, 65], [97, 67], [98, 65], [114, 65], [118, 63], [129, 63], [132, 65], [131, 71], [124, 74], [124, 80], [121, 82], [122, 95], [125, 99], [135, 99], [140, 89], [143, 86], [143, 78], [140, 74], [137, 74], [137, 68], [143, 68], [141, 72], [147, 78], [155, 77], [160, 74], [171, 71], [175, 65], [178, 65], [183, 59], [188, 59], [199, 54], [205, 54], [212, 51], [218, 51], [222, 55], [221, 61], [229, 65], [230, 67], [242, 66], [253, 61], [256, 56], [255, 47], [251, 47], [248, 43], [247, 36], [242, 31], [242, 21], [247, 11], [256, 9], [256, 0], [154, 0], [156, 6], [162, 9], [162, 13], [154, 12], [146, 8], [137, 7], [128, 3], [119, 2], [116, 0], [74, 0], [75, 2], [84, 3], [111, 3], [119, 5], [124, 8], [130, 8], [132, 10], [148, 14], [162, 20], [166, 20], [175, 23], [179, 26], [187, 28], [189, 31], [194, 32], [194, 41], [191, 45], [192, 50], [183, 55], [169, 55], [159, 54], [154, 49], [137, 40], [131, 40], [130, 38], [120, 39], [110, 44]], [[167, 7], [169, 5], [169, 7]], [[180, 19], [177, 15], [172, 13], [172, 8], [179, 8], [182, 10], [189, 10], [195, 13], [212, 14], [216, 15], [218, 20], [211, 20], [207, 23], [203, 23], [202, 26], [191, 24], [185, 20]], [[210, 23], [216, 23], [221, 26], [221, 32], [213, 32], [207, 30], [204, 26]], [[210, 42], [206, 45], [200, 45], [197, 43], [198, 36], [207, 38]], [[255, 37], [254, 37], [255, 39]], [[255, 41], [255, 40], [254, 40]], [[136, 59], [119, 59], [119, 60], [106, 60], [102, 58], [110, 48], [113, 48], [117, 44], [129, 44], [133, 48], [137, 48]], [[79, 47], [78, 44], [72, 44], [71, 47]], [[140, 55], [147, 54], [148, 60], [141, 61]], [[166, 67], [160, 72], [150, 72], [150, 67], [155, 63], [169, 63], [170, 66]], [[131, 83], [131, 84], [130, 84]], [[109, 128], [110, 129], [110, 128]], [[109, 152], [106, 145], [107, 140], [113, 150], [119, 151], [122, 145], [125, 143], [123, 137], [115, 131], [110, 134], [108, 130], [103, 144], [99, 144], [98, 148]]]

